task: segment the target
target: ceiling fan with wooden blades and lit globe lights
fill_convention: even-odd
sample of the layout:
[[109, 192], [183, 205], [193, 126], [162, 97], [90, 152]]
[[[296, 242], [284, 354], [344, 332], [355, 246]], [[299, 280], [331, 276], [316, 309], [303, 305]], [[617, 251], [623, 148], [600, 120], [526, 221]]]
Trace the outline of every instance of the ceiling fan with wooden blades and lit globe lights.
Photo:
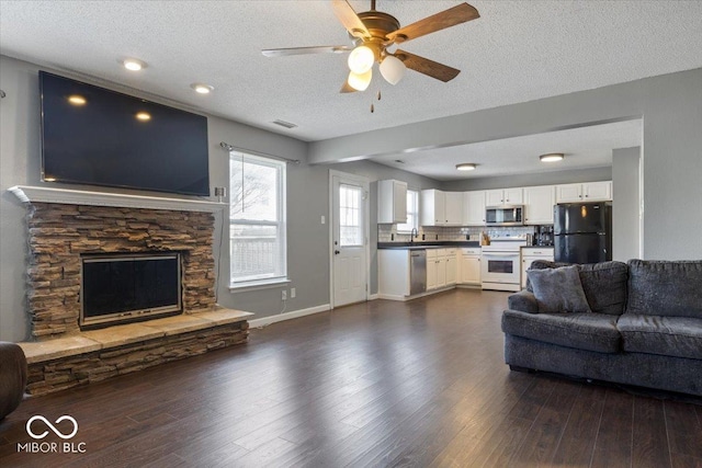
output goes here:
[[390, 52], [389, 47], [480, 18], [474, 7], [468, 3], [461, 3], [400, 27], [399, 21], [395, 16], [375, 10], [375, 0], [371, 0], [371, 10], [362, 13], [356, 13], [348, 0], [331, 0], [331, 4], [335, 14], [352, 37], [351, 46], [275, 48], [264, 49], [261, 53], [267, 57], [279, 57], [349, 52], [349, 68], [351, 71], [348, 80], [341, 87], [341, 92], [365, 90], [371, 83], [375, 62], [380, 64], [381, 75], [390, 84], [399, 82], [407, 68], [443, 82], [451, 81], [461, 70], [399, 48]]

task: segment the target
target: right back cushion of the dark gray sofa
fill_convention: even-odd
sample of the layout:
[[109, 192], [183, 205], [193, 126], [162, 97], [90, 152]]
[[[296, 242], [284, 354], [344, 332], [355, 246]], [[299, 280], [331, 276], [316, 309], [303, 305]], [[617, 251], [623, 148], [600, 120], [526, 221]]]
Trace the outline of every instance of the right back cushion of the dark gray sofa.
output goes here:
[[702, 260], [630, 260], [626, 312], [702, 319]]

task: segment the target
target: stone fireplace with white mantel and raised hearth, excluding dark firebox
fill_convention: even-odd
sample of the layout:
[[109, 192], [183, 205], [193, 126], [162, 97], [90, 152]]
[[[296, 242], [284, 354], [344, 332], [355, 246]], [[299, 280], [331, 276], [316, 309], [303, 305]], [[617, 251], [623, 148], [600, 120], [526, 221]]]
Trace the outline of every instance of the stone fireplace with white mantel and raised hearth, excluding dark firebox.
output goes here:
[[[216, 305], [219, 203], [47, 187], [10, 189], [27, 208], [31, 393], [46, 393], [244, 343], [251, 313]], [[81, 330], [86, 259], [178, 259], [179, 305], [166, 317]], [[143, 308], [141, 311], [151, 311]], [[139, 317], [150, 319], [150, 317]]]

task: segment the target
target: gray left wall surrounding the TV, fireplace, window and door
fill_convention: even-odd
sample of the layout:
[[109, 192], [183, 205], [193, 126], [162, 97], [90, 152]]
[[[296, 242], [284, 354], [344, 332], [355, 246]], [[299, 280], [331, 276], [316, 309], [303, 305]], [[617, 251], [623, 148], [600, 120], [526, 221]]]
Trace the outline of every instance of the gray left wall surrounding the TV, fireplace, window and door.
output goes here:
[[[22, 341], [29, 338], [29, 316], [25, 313], [26, 227], [25, 206], [8, 192], [13, 185], [44, 185], [39, 179], [39, 67], [33, 64], [0, 56], [0, 87], [7, 92], [1, 101], [0, 114], [0, 340]], [[50, 71], [50, 70], [49, 70]], [[60, 71], [59, 75], [67, 75]], [[84, 77], [77, 77], [83, 81]], [[105, 83], [97, 84], [105, 87]], [[159, 101], [120, 85], [118, 91]], [[170, 101], [161, 101], [177, 105]], [[185, 106], [182, 109], [193, 111]], [[196, 112], [196, 111], [195, 111]], [[307, 144], [238, 124], [225, 118], [207, 116], [210, 140], [210, 174], [212, 186], [228, 185], [228, 153], [219, 147], [226, 141], [256, 152], [276, 155], [303, 161], [287, 164], [287, 270], [296, 297], [281, 300], [281, 287], [250, 292], [230, 292], [228, 288], [229, 249], [228, 224], [224, 213], [216, 215], [215, 259], [219, 279], [217, 301], [229, 308], [242, 309], [262, 318], [286, 311], [301, 310], [329, 304], [329, 229], [321, 225], [321, 216], [329, 217], [329, 169], [305, 162]], [[437, 186], [437, 182], [408, 172], [395, 170], [370, 161], [335, 164], [336, 170], [378, 179], [399, 179], [417, 189]], [[80, 189], [76, 185], [53, 183], [50, 186]], [[371, 184], [371, 293], [377, 292], [375, 243], [376, 195]], [[115, 191], [152, 195], [138, 191], [120, 191], [84, 186], [90, 191]], [[219, 246], [222, 244], [222, 249]]]

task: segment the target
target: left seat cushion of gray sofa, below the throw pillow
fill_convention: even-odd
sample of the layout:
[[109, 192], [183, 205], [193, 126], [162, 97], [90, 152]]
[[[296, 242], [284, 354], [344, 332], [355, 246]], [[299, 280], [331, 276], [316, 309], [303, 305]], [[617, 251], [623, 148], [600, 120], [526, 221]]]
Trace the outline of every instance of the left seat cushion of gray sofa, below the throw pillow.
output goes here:
[[502, 331], [578, 350], [616, 353], [621, 335], [616, 317], [592, 312], [529, 313], [505, 310]]

